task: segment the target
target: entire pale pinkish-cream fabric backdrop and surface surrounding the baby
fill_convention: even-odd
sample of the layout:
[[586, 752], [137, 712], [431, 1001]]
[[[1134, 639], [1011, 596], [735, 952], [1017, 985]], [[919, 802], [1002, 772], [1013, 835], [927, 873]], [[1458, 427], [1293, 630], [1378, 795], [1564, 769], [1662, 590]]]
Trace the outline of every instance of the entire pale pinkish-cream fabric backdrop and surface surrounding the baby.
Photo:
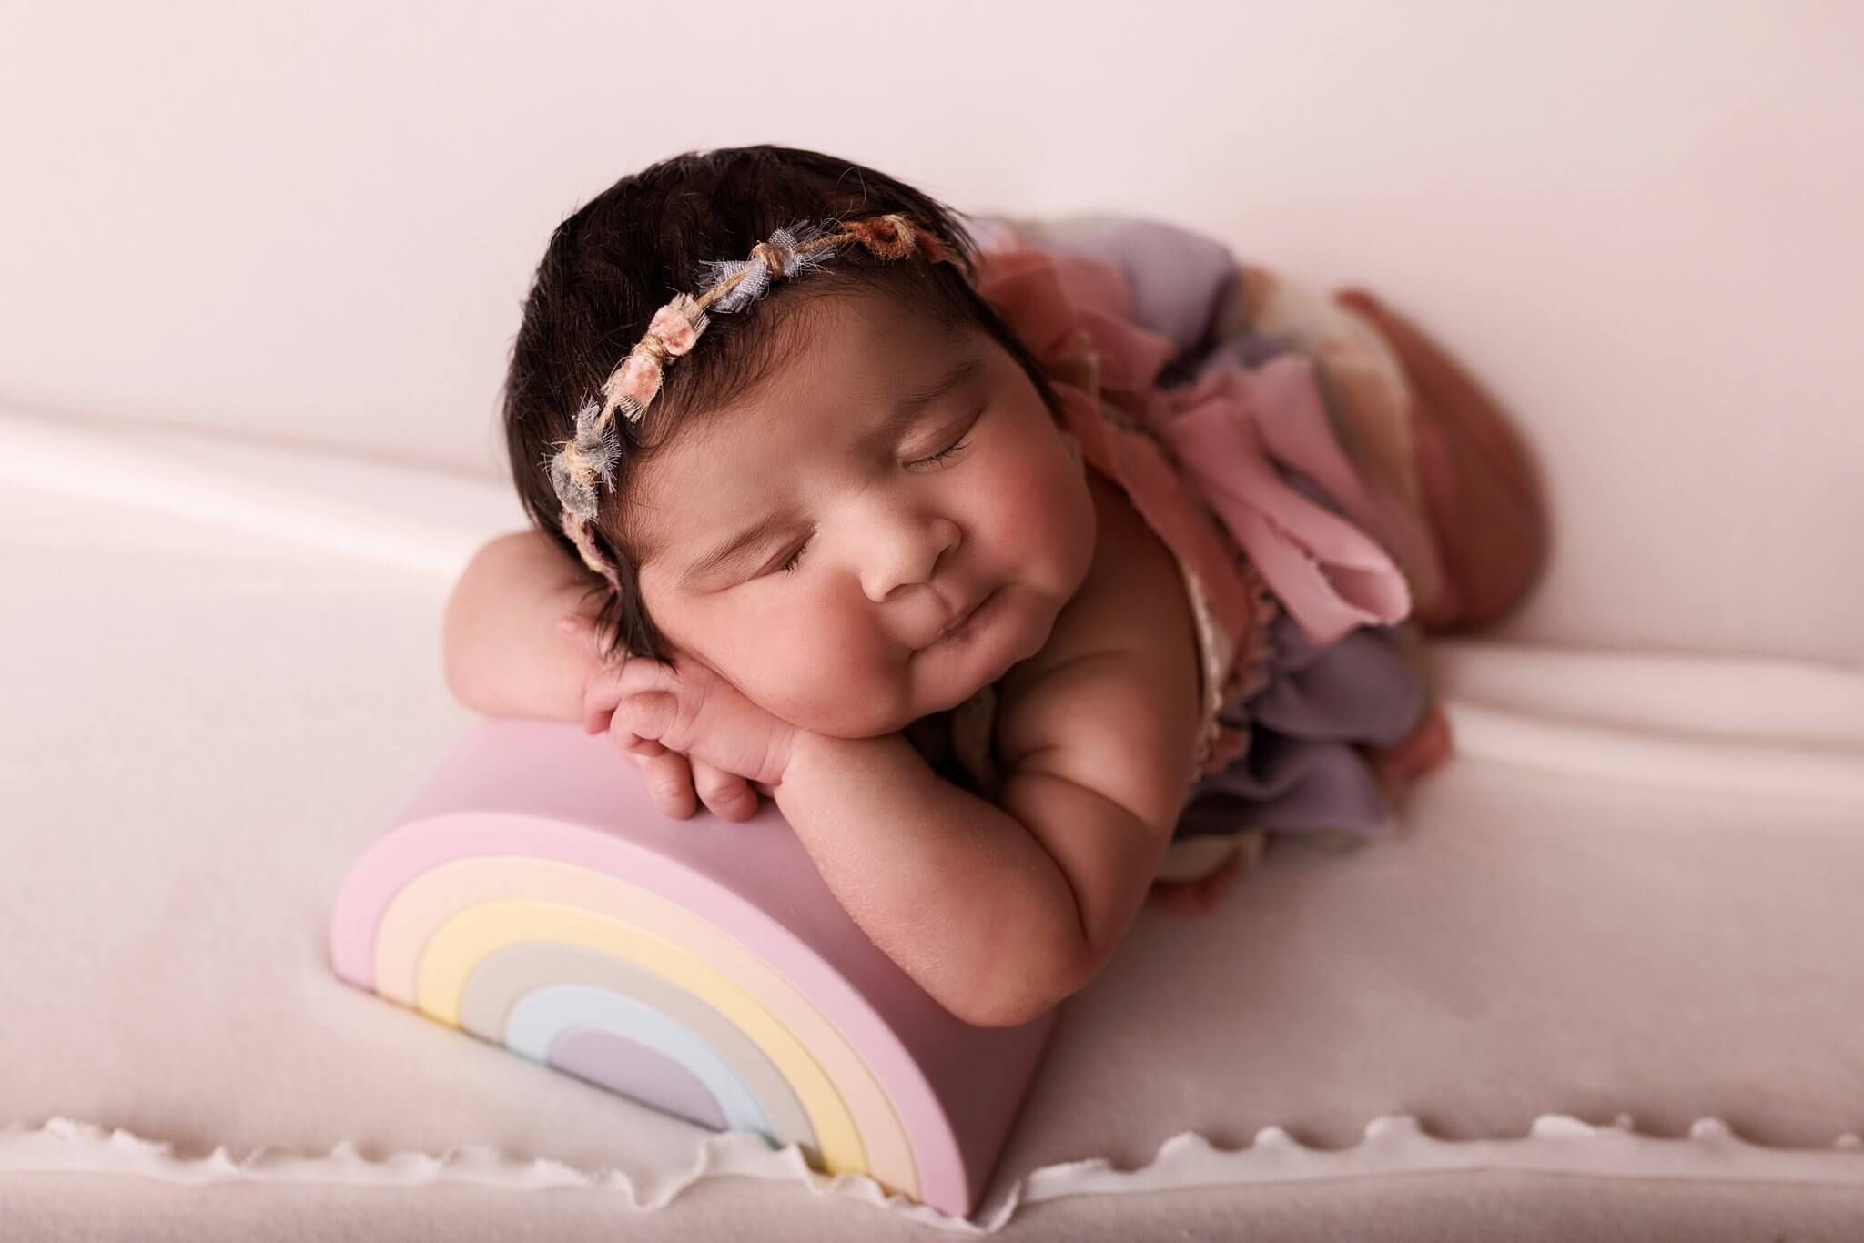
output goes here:
[[1366, 283], [1553, 492], [1542, 591], [1435, 649], [1461, 755], [1407, 833], [1148, 913], [986, 1226], [1864, 1237], [1864, 7], [960, 2], [692, 91], [678, 48], [766, 9], [0, 9], [0, 1237], [949, 1237], [324, 960], [468, 725], [440, 606], [520, 522], [494, 393], [548, 231], [747, 142]]

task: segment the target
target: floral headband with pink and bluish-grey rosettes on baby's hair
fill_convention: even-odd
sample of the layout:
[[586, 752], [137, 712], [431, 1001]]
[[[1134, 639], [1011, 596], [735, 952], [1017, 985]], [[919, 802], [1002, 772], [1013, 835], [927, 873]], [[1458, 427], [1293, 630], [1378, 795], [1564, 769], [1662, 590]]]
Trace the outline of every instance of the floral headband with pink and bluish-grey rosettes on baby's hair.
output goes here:
[[550, 460], [550, 483], [563, 503], [563, 533], [576, 544], [583, 563], [621, 591], [615, 567], [595, 546], [591, 524], [600, 512], [596, 479], [613, 486], [621, 444], [615, 434], [615, 416], [639, 423], [647, 406], [660, 393], [660, 378], [667, 365], [692, 350], [706, 326], [706, 311], [742, 311], [761, 298], [770, 283], [822, 266], [844, 242], [859, 242], [880, 259], [908, 259], [915, 253], [928, 263], [947, 257], [945, 248], [928, 231], [913, 227], [898, 212], [865, 220], [833, 222], [833, 227], [811, 225], [800, 233], [777, 229], [770, 240], [751, 248], [749, 259], [714, 259], [701, 266], [705, 293], [675, 294], [654, 311], [647, 332], [628, 350], [602, 384], [604, 401], [589, 401], [576, 412], [576, 440], [559, 442], [561, 451]]

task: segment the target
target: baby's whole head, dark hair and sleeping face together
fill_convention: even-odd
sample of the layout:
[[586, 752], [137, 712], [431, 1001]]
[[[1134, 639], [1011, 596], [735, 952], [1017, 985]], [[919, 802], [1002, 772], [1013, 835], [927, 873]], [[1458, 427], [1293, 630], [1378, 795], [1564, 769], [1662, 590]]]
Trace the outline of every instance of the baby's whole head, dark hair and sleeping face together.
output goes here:
[[[654, 313], [781, 227], [887, 212], [941, 261], [843, 244], [742, 309], [714, 307], [639, 421], [613, 414], [619, 453], [578, 552], [550, 464]], [[531, 520], [606, 563], [591, 581], [610, 656], [697, 660], [785, 721], [865, 738], [1042, 649], [1087, 576], [1094, 507], [1048, 380], [973, 289], [973, 253], [925, 194], [785, 147], [664, 160], [555, 229], [505, 434]]]

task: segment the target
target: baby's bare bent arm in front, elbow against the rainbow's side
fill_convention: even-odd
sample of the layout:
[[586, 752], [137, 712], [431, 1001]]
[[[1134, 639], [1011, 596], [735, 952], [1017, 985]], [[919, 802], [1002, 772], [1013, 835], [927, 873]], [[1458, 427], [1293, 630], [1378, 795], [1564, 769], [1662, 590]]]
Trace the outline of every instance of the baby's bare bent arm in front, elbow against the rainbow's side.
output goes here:
[[803, 734], [775, 786], [861, 930], [969, 1023], [1029, 1021], [1100, 973], [1193, 779], [1184, 585], [1137, 539], [1103, 509], [1089, 581], [1001, 684], [997, 805], [939, 779], [900, 734]]

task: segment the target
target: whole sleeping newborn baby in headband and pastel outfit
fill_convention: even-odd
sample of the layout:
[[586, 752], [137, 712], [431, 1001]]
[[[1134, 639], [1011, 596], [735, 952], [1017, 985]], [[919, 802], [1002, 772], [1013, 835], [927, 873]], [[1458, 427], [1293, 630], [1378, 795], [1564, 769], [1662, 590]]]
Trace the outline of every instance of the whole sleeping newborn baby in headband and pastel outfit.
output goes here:
[[[466, 568], [445, 665], [479, 712], [608, 731], [667, 814], [775, 799], [889, 958], [1012, 1025], [1092, 980], [1148, 891], [1200, 909], [1277, 827], [1236, 801], [1273, 801], [1240, 760], [1277, 676], [1333, 688], [1282, 695], [1331, 731], [1307, 809], [1355, 781], [1342, 755], [1381, 798], [1441, 762], [1400, 639], [1510, 608], [1543, 529], [1491, 408], [1376, 304], [1417, 391], [1405, 427], [1348, 403], [1348, 462], [1294, 360], [1172, 388], [1213, 341], [1117, 313], [1103, 261], [979, 231], [777, 147], [665, 160], [565, 220], [505, 393], [537, 529]], [[1275, 319], [1266, 272], [1236, 283], [1254, 304], [1213, 322]], [[1271, 442], [1310, 408], [1314, 475], [1158, 449], [1271, 397]], [[1174, 872], [1199, 790], [1223, 850]]]

